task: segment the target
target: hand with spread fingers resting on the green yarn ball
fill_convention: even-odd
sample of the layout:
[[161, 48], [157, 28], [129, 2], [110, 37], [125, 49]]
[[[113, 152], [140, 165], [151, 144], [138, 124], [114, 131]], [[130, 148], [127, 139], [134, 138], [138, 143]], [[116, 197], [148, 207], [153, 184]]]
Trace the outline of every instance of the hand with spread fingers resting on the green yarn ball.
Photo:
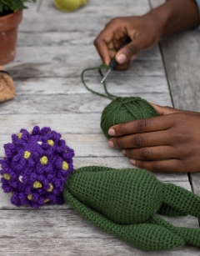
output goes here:
[[122, 148], [138, 168], [153, 172], [200, 170], [200, 113], [153, 104], [158, 117], [117, 124], [108, 145]]

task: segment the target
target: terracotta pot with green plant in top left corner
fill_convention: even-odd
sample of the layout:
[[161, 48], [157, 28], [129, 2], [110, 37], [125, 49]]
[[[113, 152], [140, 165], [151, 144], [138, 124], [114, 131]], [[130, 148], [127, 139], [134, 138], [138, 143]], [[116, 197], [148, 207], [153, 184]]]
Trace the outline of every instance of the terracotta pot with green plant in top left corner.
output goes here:
[[28, 2], [36, 0], [0, 0], [0, 65], [15, 58], [18, 24], [23, 18], [23, 9]]

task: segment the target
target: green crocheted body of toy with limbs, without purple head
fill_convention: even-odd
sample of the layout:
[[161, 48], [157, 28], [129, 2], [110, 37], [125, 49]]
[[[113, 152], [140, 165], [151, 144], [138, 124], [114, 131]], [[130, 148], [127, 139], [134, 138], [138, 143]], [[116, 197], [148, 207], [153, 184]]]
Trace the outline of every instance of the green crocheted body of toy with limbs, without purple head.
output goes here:
[[198, 228], [178, 228], [157, 215], [200, 218], [200, 198], [161, 183], [146, 170], [79, 168], [68, 178], [63, 197], [87, 220], [134, 247], [160, 251], [186, 243], [200, 246]]

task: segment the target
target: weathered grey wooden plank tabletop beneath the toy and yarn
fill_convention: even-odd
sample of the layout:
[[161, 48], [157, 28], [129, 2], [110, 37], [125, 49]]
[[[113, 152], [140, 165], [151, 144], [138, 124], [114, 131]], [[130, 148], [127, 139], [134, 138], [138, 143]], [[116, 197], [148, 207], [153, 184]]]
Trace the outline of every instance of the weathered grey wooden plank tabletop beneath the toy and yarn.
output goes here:
[[[160, 3], [158, 0], [152, 2], [154, 6]], [[18, 133], [20, 128], [31, 131], [38, 125], [50, 126], [62, 133], [67, 145], [75, 150], [75, 168], [94, 164], [133, 168], [120, 150], [107, 147], [107, 139], [102, 135], [101, 113], [110, 101], [88, 92], [80, 75], [84, 68], [101, 64], [92, 42], [105, 23], [117, 16], [147, 13], [152, 5], [148, 0], [89, 0], [76, 12], [62, 13], [54, 8], [52, 1], [43, 0], [39, 12], [36, 4], [28, 4], [28, 7], [19, 27], [17, 57], [5, 67], [14, 78], [16, 98], [0, 105], [0, 158], [4, 156], [3, 144], [11, 142], [11, 134]], [[194, 37], [196, 33], [193, 32]], [[180, 35], [179, 48], [183, 37]], [[198, 47], [198, 43], [195, 45]], [[158, 45], [139, 53], [127, 72], [110, 74], [108, 91], [122, 97], [140, 96], [161, 105], [173, 106], [173, 103], [182, 102], [183, 97], [178, 98], [179, 94], [173, 92], [173, 88], [177, 90], [177, 83], [172, 82], [180, 79], [176, 67], [182, 59], [170, 69], [177, 56], [170, 52], [173, 51], [171, 48], [170, 41], [166, 41], [162, 43], [163, 56]], [[182, 58], [180, 54], [178, 56]], [[198, 62], [198, 57], [196, 60]], [[190, 65], [193, 65], [192, 58], [188, 61]], [[100, 80], [97, 73], [86, 74], [88, 86], [102, 93]], [[184, 94], [185, 91], [181, 91]], [[194, 106], [198, 105], [194, 103]], [[187, 173], [154, 175], [164, 183], [174, 183], [189, 191], [193, 188], [198, 193], [198, 178], [191, 187]], [[199, 255], [198, 248], [187, 246], [168, 252], [143, 252], [95, 228], [67, 203], [33, 210], [13, 206], [10, 196], [2, 189], [0, 198], [0, 255], [3, 256]], [[163, 218], [178, 226], [199, 227], [197, 218]]]

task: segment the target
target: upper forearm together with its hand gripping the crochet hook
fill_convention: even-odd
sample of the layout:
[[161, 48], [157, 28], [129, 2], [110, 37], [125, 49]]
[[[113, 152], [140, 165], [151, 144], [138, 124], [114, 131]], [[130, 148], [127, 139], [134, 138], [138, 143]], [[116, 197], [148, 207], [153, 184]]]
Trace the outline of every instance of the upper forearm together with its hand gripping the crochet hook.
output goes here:
[[[195, 28], [198, 23], [195, 0], [168, 0], [143, 16], [113, 18], [94, 44], [103, 63], [108, 65], [116, 56], [117, 69], [125, 70], [142, 49], [153, 47], [164, 35]], [[118, 50], [127, 37], [132, 42]]]

